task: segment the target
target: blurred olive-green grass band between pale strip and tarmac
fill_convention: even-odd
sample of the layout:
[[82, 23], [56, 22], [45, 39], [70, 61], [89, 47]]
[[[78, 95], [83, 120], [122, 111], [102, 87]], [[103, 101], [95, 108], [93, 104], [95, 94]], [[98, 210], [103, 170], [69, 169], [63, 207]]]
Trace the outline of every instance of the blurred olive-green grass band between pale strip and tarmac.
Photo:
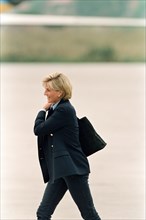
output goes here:
[[144, 62], [142, 27], [3, 26], [3, 62]]

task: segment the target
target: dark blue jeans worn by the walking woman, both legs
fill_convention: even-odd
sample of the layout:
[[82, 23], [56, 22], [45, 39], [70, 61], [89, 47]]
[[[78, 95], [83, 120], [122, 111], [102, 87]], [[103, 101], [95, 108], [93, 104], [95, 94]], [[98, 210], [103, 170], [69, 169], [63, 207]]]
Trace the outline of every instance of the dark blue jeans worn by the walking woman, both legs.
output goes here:
[[101, 220], [95, 210], [88, 185], [88, 175], [73, 175], [48, 183], [37, 210], [38, 220], [50, 220], [66, 191], [69, 190], [84, 220]]

